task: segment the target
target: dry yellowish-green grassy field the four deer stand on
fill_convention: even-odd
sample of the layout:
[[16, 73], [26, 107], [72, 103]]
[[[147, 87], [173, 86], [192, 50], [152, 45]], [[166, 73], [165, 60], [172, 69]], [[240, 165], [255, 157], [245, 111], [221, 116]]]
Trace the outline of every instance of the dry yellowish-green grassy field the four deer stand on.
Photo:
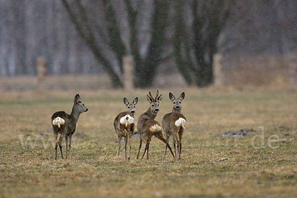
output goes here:
[[[155, 89], [151, 91], [155, 93]], [[148, 161], [136, 159], [138, 137], [133, 137], [130, 161], [125, 161], [123, 147], [120, 156], [115, 156], [113, 120], [125, 110], [123, 97], [139, 97], [138, 118], [148, 108], [148, 90], [2, 92], [0, 197], [296, 196], [295, 90], [161, 89], [159, 122], [172, 108], [169, 91], [175, 96], [186, 93], [182, 106], [187, 125], [179, 161], [168, 151], [163, 159], [165, 145], [155, 138]], [[73, 137], [71, 160], [62, 160], [59, 152], [54, 160], [50, 117], [57, 110], [70, 113], [77, 92], [89, 108], [81, 114], [75, 132], [84, 136]], [[259, 127], [264, 134], [218, 137], [242, 128], [260, 131]], [[143, 150], [144, 146], [141, 154]], [[64, 142], [63, 151], [65, 154]], [[220, 161], [223, 157], [229, 159]]]

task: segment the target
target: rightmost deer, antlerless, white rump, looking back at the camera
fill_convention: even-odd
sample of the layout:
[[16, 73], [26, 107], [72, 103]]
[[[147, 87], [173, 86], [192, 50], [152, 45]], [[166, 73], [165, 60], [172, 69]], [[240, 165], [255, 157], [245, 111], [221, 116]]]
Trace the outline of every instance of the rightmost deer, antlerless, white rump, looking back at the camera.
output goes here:
[[[185, 98], [185, 93], [183, 92], [178, 99], [175, 99], [173, 94], [169, 93], [169, 99], [173, 102], [172, 112], [164, 115], [162, 119], [162, 128], [166, 134], [166, 146], [164, 152], [164, 158], [166, 155], [167, 146], [169, 146], [169, 136], [173, 137], [173, 146], [175, 156], [181, 159], [182, 150], [182, 136], [184, 133], [186, 125], [186, 117], [181, 113], [182, 110], [182, 100]], [[177, 153], [175, 149], [177, 145]], [[170, 147], [168, 147], [170, 149]]]

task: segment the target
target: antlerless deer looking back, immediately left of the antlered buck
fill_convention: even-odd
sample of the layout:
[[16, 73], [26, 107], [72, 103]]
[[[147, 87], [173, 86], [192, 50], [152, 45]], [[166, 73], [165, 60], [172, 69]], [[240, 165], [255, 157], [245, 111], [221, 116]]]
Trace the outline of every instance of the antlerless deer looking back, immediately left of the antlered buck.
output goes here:
[[131, 153], [131, 138], [134, 132], [134, 115], [135, 115], [135, 105], [138, 102], [138, 98], [136, 97], [133, 102], [129, 102], [126, 98], [124, 98], [124, 104], [126, 105], [127, 111], [119, 113], [113, 122], [113, 127], [118, 135], [118, 150], [116, 155], [119, 156], [119, 151], [121, 148], [121, 140], [122, 137], [125, 137], [125, 159], [127, 159], [127, 142], [129, 138], [129, 157]]

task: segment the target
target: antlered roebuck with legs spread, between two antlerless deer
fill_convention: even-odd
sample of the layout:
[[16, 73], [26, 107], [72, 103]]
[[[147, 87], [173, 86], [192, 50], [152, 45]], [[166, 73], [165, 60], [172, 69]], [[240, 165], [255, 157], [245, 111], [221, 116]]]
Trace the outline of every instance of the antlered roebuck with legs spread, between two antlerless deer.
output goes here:
[[[137, 121], [137, 130], [140, 134], [140, 143], [139, 143], [139, 149], [137, 153], [137, 159], [139, 157], [139, 152], [141, 149], [142, 142], [146, 144], [146, 148], [142, 156], [142, 159], [144, 158], [146, 151], [147, 151], [147, 159], [148, 159], [148, 148], [149, 148], [149, 143], [152, 136], [155, 136], [158, 139], [160, 139], [163, 143], [166, 143], [165, 137], [162, 134], [161, 125], [154, 120], [155, 117], [157, 116], [157, 113], [159, 112], [159, 103], [162, 99], [161, 98], [162, 94], [159, 96], [159, 90], [157, 90], [157, 94], [155, 98], [151, 96], [150, 92], [148, 92], [148, 94], [149, 94], [149, 96], [147, 95], [148, 102], [150, 104], [148, 107], [148, 110], [143, 114], [141, 114], [141, 116], [139, 116]], [[175, 158], [173, 151], [169, 145], [168, 145], [168, 148], [171, 151], [173, 158]]]

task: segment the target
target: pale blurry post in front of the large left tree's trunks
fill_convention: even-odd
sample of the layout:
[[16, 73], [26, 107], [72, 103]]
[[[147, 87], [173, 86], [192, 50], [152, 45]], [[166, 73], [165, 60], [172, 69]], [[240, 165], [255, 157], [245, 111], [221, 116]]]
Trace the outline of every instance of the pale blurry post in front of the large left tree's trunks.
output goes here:
[[134, 61], [130, 55], [124, 56], [123, 59], [124, 78], [123, 84], [125, 90], [132, 90], [134, 88]]

